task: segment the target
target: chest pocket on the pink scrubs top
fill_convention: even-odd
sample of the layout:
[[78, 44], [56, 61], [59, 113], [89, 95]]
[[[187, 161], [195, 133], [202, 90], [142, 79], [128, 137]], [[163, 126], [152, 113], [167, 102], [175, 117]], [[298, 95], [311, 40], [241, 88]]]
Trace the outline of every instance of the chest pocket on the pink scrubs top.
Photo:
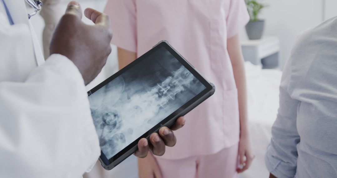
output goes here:
[[210, 20], [210, 59], [212, 68], [224, 68], [224, 59], [227, 50], [224, 47], [223, 36], [226, 35], [225, 24], [217, 19]]

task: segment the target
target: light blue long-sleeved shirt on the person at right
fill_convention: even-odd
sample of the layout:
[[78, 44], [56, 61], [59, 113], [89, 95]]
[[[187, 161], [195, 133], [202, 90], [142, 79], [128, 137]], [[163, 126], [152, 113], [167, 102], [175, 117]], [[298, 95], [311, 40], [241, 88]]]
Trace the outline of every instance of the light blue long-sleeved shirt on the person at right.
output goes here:
[[298, 39], [265, 157], [278, 178], [337, 177], [337, 18]]

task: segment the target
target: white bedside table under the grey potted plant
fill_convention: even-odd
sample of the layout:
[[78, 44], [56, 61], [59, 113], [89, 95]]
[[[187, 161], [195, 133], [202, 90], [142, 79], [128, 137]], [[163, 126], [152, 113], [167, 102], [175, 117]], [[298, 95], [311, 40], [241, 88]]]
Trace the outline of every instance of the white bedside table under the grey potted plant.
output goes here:
[[266, 36], [259, 40], [242, 40], [242, 54], [245, 61], [263, 68], [278, 67], [280, 40], [277, 36]]

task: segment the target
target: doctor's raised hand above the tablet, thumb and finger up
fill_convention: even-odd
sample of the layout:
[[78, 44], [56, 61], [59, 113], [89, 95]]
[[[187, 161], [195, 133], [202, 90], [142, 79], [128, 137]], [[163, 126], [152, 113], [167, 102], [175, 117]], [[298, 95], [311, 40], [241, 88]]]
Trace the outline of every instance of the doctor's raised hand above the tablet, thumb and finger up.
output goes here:
[[50, 54], [61, 54], [78, 67], [85, 84], [89, 84], [106, 63], [111, 53], [112, 31], [109, 17], [87, 8], [85, 16], [95, 25], [86, 25], [78, 2], [68, 4], [52, 36]]

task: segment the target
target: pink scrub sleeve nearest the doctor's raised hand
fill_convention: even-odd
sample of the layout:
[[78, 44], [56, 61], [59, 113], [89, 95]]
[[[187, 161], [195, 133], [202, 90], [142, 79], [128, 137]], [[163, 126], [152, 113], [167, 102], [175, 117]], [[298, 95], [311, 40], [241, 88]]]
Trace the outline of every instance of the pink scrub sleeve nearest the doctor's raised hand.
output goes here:
[[109, 0], [105, 14], [111, 19], [113, 38], [111, 43], [125, 50], [136, 52], [136, 6], [135, 0]]

